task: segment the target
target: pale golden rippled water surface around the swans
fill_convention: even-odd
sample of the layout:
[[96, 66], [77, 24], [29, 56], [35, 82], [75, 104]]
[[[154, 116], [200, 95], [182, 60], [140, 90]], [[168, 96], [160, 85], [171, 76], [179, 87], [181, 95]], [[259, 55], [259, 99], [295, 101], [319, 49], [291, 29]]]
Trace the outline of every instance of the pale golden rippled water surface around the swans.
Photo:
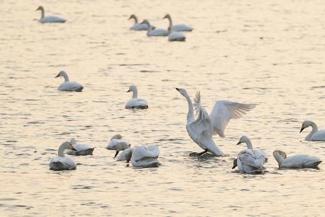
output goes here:
[[[307, 142], [305, 119], [325, 128], [325, 2], [311, 1], [2, 1], [0, 7], [0, 210], [5, 216], [239, 216], [323, 214], [320, 169], [278, 170], [272, 151], [325, 159]], [[167, 27], [194, 27], [185, 43], [132, 32], [132, 13]], [[60, 92], [65, 70], [82, 92]], [[137, 84], [147, 110], [126, 110]], [[214, 141], [224, 157], [201, 151], [185, 130], [187, 103], [201, 89], [208, 112], [220, 99], [257, 103]], [[133, 146], [159, 146], [158, 168], [135, 169], [105, 149], [116, 133]], [[239, 138], [270, 155], [267, 172], [241, 174]], [[66, 140], [95, 147], [72, 157], [74, 171], [50, 171]]]

